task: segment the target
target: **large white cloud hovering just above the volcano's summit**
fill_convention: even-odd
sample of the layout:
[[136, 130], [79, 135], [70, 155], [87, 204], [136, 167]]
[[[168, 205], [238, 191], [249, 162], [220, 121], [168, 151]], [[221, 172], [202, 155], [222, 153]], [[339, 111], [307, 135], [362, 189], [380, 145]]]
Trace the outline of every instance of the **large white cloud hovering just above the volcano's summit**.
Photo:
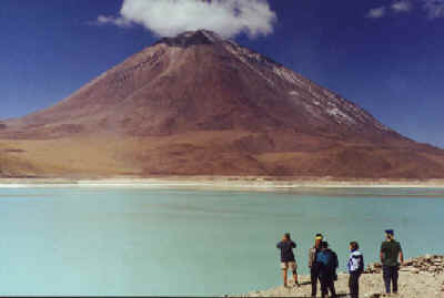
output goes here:
[[160, 37], [206, 29], [231, 38], [273, 32], [276, 14], [268, 0], [124, 0], [119, 17], [99, 16], [97, 22], [128, 27], [138, 23]]

